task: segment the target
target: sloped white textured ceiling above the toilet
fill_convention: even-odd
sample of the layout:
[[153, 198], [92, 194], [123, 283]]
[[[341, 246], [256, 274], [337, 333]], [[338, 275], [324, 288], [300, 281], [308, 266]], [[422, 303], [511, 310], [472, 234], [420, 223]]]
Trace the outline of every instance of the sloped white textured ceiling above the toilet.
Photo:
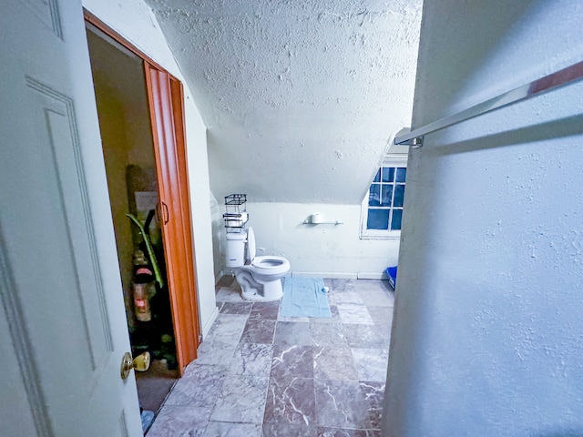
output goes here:
[[408, 126], [422, 0], [146, 0], [208, 127], [221, 198], [358, 204]]

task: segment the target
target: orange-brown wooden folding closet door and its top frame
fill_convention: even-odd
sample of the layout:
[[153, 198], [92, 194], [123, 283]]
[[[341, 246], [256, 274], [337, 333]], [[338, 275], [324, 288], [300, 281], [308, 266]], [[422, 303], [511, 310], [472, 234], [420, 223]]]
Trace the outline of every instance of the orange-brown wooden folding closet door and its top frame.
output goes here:
[[142, 59], [154, 139], [164, 257], [179, 373], [197, 358], [199, 302], [190, 216], [184, 122], [184, 92], [179, 79], [87, 9], [85, 20]]

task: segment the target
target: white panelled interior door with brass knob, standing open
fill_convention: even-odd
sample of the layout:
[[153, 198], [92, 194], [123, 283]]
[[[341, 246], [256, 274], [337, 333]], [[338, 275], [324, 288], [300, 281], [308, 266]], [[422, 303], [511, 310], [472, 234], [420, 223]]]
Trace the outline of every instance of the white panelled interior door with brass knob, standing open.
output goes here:
[[80, 1], [0, 29], [0, 435], [141, 435]]

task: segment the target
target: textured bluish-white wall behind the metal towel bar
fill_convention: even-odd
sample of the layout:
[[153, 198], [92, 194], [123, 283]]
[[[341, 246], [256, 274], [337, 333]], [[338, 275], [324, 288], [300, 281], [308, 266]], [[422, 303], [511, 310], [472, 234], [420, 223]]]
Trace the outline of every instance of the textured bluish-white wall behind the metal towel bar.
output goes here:
[[[414, 126], [579, 62], [582, 17], [427, 2]], [[410, 153], [384, 435], [583, 434], [582, 107], [579, 83]]]

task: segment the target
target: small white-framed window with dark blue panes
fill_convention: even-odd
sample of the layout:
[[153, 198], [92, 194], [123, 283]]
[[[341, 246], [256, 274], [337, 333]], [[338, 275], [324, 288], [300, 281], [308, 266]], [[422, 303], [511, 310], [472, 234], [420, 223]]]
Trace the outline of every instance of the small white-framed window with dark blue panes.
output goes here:
[[363, 200], [361, 239], [400, 237], [406, 177], [406, 156], [384, 158]]

